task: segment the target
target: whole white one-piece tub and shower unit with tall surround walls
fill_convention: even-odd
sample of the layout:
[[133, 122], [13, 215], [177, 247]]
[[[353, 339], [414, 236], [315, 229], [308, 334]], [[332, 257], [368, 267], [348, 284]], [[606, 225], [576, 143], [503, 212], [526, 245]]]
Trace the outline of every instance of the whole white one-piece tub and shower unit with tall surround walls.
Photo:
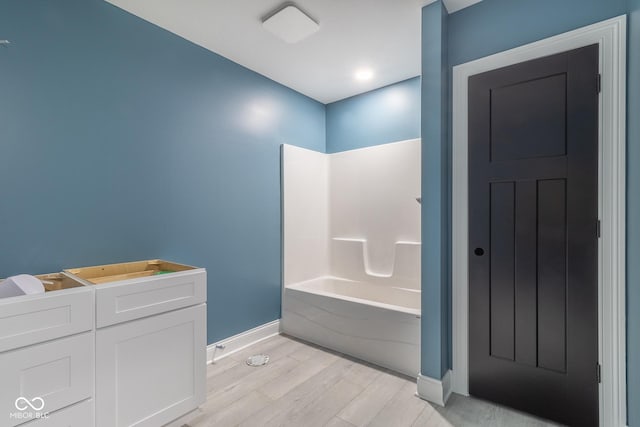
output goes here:
[[284, 333], [418, 374], [420, 148], [283, 145]]

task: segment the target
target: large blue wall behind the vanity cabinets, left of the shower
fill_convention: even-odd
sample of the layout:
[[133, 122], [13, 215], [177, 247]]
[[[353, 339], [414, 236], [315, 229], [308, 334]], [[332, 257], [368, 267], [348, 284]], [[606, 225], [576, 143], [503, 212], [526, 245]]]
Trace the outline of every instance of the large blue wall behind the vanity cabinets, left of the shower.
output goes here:
[[324, 106], [102, 0], [3, 0], [0, 38], [0, 277], [163, 257], [209, 342], [279, 318], [279, 145]]

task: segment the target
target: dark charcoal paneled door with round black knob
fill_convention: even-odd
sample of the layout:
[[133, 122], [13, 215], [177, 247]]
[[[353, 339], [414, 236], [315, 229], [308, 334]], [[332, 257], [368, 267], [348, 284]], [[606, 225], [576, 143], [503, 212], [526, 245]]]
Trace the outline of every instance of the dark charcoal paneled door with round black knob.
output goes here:
[[469, 79], [469, 392], [598, 425], [598, 46]]

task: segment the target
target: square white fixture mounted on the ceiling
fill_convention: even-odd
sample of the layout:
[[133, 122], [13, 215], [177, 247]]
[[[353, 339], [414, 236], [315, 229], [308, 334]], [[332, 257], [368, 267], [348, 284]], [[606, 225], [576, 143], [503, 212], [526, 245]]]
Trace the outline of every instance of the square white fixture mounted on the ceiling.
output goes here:
[[262, 26], [286, 43], [297, 43], [320, 29], [316, 21], [294, 5], [288, 5], [270, 15]]

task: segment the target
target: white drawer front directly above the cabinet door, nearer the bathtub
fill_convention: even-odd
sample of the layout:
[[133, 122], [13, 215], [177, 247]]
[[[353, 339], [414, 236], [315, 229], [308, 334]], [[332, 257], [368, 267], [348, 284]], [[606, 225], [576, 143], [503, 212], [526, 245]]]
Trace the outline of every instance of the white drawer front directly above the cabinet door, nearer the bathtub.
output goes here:
[[153, 316], [206, 300], [207, 273], [204, 270], [96, 285], [97, 327]]

